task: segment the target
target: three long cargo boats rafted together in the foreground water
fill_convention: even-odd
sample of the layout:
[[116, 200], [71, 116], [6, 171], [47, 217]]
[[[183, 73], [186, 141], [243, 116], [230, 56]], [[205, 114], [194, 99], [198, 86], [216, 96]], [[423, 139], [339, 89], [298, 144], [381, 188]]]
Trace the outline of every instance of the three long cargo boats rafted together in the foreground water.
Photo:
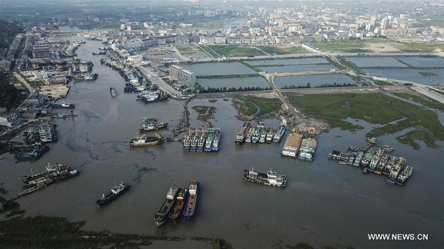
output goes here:
[[165, 223], [168, 218], [176, 219], [181, 214], [191, 218], [195, 215], [197, 197], [199, 193], [199, 182], [191, 181], [188, 188], [170, 187], [165, 201], [159, 211], [154, 215], [156, 227]]

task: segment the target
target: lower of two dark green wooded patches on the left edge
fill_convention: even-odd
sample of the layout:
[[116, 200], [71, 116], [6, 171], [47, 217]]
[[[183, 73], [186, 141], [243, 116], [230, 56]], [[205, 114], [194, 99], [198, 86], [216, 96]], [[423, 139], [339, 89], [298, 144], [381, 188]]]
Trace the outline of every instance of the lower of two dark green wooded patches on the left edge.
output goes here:
[[[8, 110], [18, 106], [29, 93], [26, 88], [17, 89], [10, 83], [17, 83], [17, 79], [12, 73], [0, 70], [0, 106], [6, 107]], [[21, 94], [21, 92], [27, 94]]]

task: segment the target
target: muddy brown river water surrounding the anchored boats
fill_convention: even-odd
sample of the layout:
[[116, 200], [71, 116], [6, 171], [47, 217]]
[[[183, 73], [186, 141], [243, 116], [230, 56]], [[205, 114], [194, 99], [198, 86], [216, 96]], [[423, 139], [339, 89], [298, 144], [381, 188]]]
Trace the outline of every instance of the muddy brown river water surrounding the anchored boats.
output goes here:
[[[47, 162], [77, 168], [79, 177], [53, 184], [18, 199], [26, 216], [37, 214], [85, 220], [84, 229], [170, 236], [216, 236], [234, 248], [276, 248], [307, 242], [355, 248], [443, 248], [443, 146], [422, 146], [412, 150], [395, 140], [399, 134], [380, 137], [381, 143], [396, 148], [414, 167], [404, 187], [391, 186], [376, 174], [363, 175], [362, 169], [338, 165], [328, 160], [332, 149], [345, 151], [348, 145], [364, 145], [364, 135], [372, 126], [355, 133], [333, 129], [319, 136], [313, 162], [280, 156], [280, 144], [244, 144], [233, 139], [243, 122], [235, 118], [231, 101], [193, 99], [189, 105], [217, 107], [215, 120], [222, 128], [221, 151], [184, 153], [179, 142], [164, 142], [148, 148], [129, 148], [143, 117], [169, 122], [172, 129], [183, 111], [184, 102], [169, 99], [145, 104], [135, 94], [123, 93], [124, 81], [117, 71], [101, 65], [92, 56], [102, 44], [87, 41], [77, 50], [79, 58], [94, 62], [95, 82], [76, 82], [65, 101], [76, 106], [75, 119], [55, 120], [59, 141], [36, 162], [16, 163], [12, 154], [0, 161], [0, 182], [8, 196], [21, 191], [19, 176], [44, 169]], [[328, 76], [326, 76], [328, 77]], [[111, 98], [109, 89], [116, 88]], [[57, 110], [69, 113], [69, 110]], [[202, 125], [191, 111], [191, 125]], [[278, 125], [278, 120], [265, 120]], [[354, 122], [352, 120], [352, 122]], [[169, 136], [168, 130], [159, 131]], [[342, 134], [340, 138], [334, 136]], [[285, 189], [256, 185], [241, 178], [241, 170], [255, 167], [259, 172], [272, 168], [286, 174]], [[108, 206], [95, 201], [109, 192], [114, 181], [125, 181], [131, 190]], [[181, 217], [155, 228], [153, 216], [172, 185], [187, 187], [201, 183], [197, 217]], [[368, 233], [423, 233], [428, 241], [369, 241]], [[162, 246], [168, 247], [161, 243]], [[192, 243], [194, 245], [195, 243]], [[187, 244], [191, 245], [191, 244]], [[202, 245], [206, 247], [207, 245]], [[171, 248], [177, 244], [171, 244]], [[184, 245], [184, 247], [186, 247]]]

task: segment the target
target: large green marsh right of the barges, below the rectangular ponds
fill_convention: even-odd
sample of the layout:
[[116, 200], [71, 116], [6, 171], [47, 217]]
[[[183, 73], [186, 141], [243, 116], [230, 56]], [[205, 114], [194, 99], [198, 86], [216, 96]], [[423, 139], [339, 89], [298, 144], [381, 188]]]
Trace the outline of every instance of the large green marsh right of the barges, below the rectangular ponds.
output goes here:
[[[351, 117], [371, 124], [383, 125], [367, 133], [369, 137], [394, 133], [412, 126], [420, 126], [432, 132], [434, 138], [444, 140], [444, 127], [434, 111], [426, 110], [422, 106], [410, 104], [383, 93], [308, 94], [290, 96], [289, 100], [293, 105], [304, 108], [308, 115], [338, 119]], [[387, 124], [393, 121], [398, 122]]]

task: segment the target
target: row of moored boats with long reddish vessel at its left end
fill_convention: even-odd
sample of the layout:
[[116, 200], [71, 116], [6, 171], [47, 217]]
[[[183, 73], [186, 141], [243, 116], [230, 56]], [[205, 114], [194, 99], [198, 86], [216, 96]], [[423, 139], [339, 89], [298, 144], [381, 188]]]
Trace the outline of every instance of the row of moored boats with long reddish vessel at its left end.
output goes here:
[[280, 125], [279, 128], [265, 126], [263, 122], [258, 125], [251, 122], [245, 122], [242, 128], [234, 137], [236, 144], [247, 143], [279, 143], [285, 134], [285, 125]]

